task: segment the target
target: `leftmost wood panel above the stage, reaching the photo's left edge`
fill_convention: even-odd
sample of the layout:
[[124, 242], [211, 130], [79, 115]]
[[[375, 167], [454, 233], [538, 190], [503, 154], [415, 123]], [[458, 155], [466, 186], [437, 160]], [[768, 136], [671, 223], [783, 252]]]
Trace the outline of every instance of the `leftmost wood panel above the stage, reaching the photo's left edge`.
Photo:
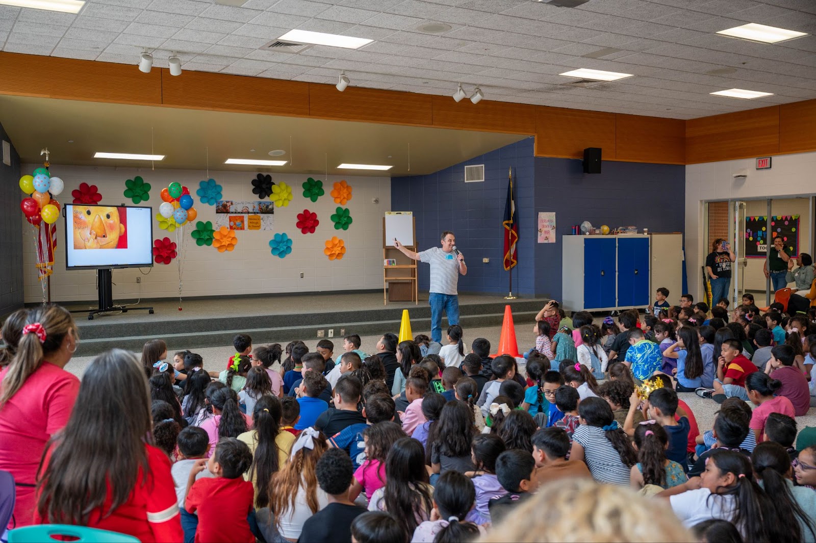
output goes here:
[[158, 105], [162, 74], [126, 64], [0, 52], [0, 94]]

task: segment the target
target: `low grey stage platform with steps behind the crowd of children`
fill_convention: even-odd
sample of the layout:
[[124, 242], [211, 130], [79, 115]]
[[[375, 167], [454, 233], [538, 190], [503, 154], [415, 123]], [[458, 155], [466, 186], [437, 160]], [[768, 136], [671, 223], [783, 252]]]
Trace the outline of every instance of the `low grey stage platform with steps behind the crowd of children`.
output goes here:
[[[118, 315], [95, 316], [87, 320], [81, 313], [74, 318], [79, 326], [80, 342], [76, 355], [97, 355], [113, 347], [139, 352], [153, 338], [168, 344], [197, 347], [223, 347], [232, 344], [236, 333], [248, 333], [254, 343], [283, 342], [291, 338], [304, 341], [324, 337], [335, 344], [345, 334], [375, 335], [397, 333], [402, 310], [410, 313], [414, 334], [431, 329], [428, 295], [420, 294], [419, 305], [389, 302], [383, 305], [381, 292], [360, 294], [262, 295], [253, 298], [210, 298], [182, 302], [178, 300], [141, 302], [135, 307], [151, 306], [147, 311], [127, 311]], [[459, 295], [459, 324], [464, 329], [501, 326], [504, 306], [510, 304], [516, 323], [532, 322], [546, 298], [505, 300], [501, 296]], [[119, 302], [118, 303], [122, 303]], [[72, 311], [87, 310], [87, 305], [67, 305]], [[442, 320], [443, 333], [447, 321]], [[332, 333], [332, 337], [330, 337]], [[518, 333], [518, 332], [517, 332]]]

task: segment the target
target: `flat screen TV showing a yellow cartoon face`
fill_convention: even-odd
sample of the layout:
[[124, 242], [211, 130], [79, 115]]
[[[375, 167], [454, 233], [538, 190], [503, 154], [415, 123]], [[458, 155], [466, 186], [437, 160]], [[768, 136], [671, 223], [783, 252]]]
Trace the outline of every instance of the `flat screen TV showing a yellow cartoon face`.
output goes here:
[[65, 204], [65, 267], [153, 266], [153, 208]]

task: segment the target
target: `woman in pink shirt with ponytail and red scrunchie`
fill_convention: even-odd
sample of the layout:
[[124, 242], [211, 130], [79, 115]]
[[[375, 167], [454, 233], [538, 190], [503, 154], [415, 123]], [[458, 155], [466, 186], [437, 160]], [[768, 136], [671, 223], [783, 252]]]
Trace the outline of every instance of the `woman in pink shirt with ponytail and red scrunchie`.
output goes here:
[[0, 372], [0, 470], [14, 475], [17, 492], [9, 527], [33, 523], [42, 452], [77, 400], [79, 379], [63, 369], [77, 340], [77, 325], [64, 307], [37, 307], [24, 321], [17, 354]]

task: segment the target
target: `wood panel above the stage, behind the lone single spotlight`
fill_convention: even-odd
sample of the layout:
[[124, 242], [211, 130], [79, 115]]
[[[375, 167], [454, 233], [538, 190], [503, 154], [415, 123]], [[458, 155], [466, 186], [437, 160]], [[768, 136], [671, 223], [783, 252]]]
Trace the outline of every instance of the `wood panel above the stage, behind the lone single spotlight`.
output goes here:
[[338, 92], [334, 85], [309, 83], [311, 117], [338, 121], [382, 122], [430, 126], [431, 96], [349, 86]]

